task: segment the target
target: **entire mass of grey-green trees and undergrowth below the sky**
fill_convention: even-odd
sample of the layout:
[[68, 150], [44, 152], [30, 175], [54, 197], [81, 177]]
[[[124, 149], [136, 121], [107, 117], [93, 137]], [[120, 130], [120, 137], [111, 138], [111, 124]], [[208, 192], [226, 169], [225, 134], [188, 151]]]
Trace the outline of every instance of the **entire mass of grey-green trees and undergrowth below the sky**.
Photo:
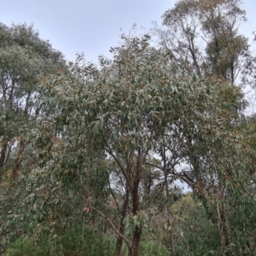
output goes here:
[[97, 65], [0, 24], [1, 254], [255, 255], [245, 15], [177, 1]]

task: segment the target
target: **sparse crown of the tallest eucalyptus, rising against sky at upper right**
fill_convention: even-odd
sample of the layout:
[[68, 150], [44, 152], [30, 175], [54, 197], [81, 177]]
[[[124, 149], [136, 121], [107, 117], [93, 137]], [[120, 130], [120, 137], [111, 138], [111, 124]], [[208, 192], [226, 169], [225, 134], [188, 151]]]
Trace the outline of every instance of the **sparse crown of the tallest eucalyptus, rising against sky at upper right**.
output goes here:
[[180, 0], [162, 16], [167, 29], [154, 31], [184, 72], [214, 74], [234, 84], [252, 66], [247, 38], [239, 32], [247, 20], [241, 4], [240, 0]]

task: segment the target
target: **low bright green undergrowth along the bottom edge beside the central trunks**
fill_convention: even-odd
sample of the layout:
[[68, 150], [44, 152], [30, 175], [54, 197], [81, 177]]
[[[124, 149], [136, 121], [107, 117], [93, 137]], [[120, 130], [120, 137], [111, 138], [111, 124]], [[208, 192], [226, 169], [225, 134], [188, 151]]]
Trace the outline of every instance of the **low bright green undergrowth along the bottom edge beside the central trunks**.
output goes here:
[[[20, 236], [9, 243], [6, 256], [112, 256], [114, 255], [116, 236], [107, 236], [83, 224], [73, 224], [73, 227], [55, 238], [55, 243], [49, 242], [47, 236], [41, 236], [36, 242], [30, 236]], [[127, 247], [123, 247], [124, 255]], [[142, 241], [141, 256], [167, 256], [170, 252], [154, 241]]]

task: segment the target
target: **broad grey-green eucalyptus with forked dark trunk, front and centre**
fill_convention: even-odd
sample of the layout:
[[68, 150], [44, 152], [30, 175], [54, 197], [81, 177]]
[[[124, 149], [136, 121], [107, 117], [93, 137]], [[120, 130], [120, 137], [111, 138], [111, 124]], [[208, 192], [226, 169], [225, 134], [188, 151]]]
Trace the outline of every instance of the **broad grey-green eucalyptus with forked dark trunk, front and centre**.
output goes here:
[[[163, 191], [168, 200], [170, 185], [181, 179], [204, 195], [207, 177], [217, 177], [217, 169], [207, 166], [207, 157], [212, 157], [214, 165], [214, 148], [218, 154], [227, 150], [218, 142], [224, 130], [239, 119], [243, 102], [241, 91], [224, 79], [184, 74], [172, 54], [149, 44], [148, 35], [122, 38], [119, 47], [110, 49], [113, 60], [101, 56], [98, 67], [74, 65], [71, 75], [51, 76], [42, 83], [56, 111], [34, 131], [38, 148], [44, 148], [44, 167], [37, 173], [43, 177], [49, 173], [52, 189], [62, 191], [64, 197], [65, 188], [77, 181], [73, 183], [76, 193], [70, 193], [84, 200], [85, 212], [97, 212], [118, 235], [116, 255], [120, 255], [123, 241], [129, 255], [138, 255], [147, 208], [155, 206]], [[55, 146], [56, 130], [61, 147]], [[226, 135], [231, 141], [234, 133]], [[49, 148], [45, 146], [48, 144]], [[104, 212], [107, 198], [97, 196], [86, 185], [86, 177], [96, 172], [97, 163], [104, 159], [114, 163], [125, 188], [123, 199], [115, 202], [120, 210], [119, 223]], [[153, 196], [142, 193], [148, 168], [162, 178], [158, 193], [154, 193], [156, 187], [151, 189]], [[105, 171], [107, 183], [102, 191], [108, 194], [111, 171], [108, 167]], [[55, 206], [52, 200], [60, 198], [47, 196], [49, 207]], [[69, 201], [67, 196], [64, 201]], [[51, 210], [51, 218], [54, 212]]]

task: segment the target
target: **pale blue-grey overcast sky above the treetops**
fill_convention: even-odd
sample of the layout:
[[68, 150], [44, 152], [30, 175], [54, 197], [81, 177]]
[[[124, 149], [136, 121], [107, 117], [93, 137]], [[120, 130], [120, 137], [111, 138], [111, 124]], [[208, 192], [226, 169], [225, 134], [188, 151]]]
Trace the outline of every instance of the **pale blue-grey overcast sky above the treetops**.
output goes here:
[[[120, 28], [149, 29], [151, 22], [161, 23], [161, 15], [175, 0], [0, 0], [0, 21], [34, 24], [40, 38], [48, 39], [68, 61], [84, 52], [86, 61], [98, 55], [111, 56], [109, 48], [119, 42]], [[251, 36], [256, 30], [256, 1], [244, 1], [248, 22], [242, 31]]]

